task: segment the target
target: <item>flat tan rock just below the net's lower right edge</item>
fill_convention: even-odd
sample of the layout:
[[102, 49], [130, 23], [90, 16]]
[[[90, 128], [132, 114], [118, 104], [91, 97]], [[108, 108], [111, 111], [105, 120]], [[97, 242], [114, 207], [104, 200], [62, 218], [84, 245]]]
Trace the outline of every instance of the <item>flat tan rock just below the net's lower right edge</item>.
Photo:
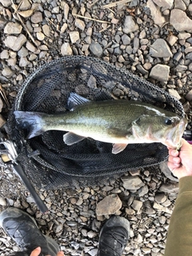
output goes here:
[[138, 176], [126, 176], [122, 177], [123, 187], [126, 190], [138, 190], [142, 186], [144, 186], [144, 183]]

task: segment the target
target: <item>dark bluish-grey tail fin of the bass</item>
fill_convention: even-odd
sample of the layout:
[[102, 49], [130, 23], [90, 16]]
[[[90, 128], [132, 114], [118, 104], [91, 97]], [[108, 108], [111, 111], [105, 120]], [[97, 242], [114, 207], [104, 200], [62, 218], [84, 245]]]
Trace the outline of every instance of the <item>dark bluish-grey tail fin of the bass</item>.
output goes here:
[[14, 111], [14, 116], [18, 128], [27, 130], [27, 139], [38, 136], [45, 131], [43, 129], [44, 122], [42, 120], [42, 113]]

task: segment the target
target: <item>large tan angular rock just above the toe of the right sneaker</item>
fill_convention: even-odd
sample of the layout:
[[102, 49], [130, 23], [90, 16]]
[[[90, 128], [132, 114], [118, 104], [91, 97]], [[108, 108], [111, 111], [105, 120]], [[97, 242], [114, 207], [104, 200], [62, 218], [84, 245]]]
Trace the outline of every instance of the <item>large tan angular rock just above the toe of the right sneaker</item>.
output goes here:
[[96, 214], [97, 216], [115, 214], [121, 207], [122, 201], [118, 197], [118, 194], [110, 194], [98, 202]]

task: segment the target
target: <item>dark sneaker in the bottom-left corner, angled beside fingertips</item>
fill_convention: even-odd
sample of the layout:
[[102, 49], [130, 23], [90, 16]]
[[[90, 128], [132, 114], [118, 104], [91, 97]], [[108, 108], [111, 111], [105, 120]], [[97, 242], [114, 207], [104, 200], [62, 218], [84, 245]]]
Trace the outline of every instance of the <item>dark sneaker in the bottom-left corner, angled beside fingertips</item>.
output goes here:
[[40, 246], [41, 255], [55, 256], [59, 251], [58, 244], [38, 230], [34, 218], [23, 210], [9, 207], [0, 214], [0, 226], [5, 230], [22, 251], [30, 253]]

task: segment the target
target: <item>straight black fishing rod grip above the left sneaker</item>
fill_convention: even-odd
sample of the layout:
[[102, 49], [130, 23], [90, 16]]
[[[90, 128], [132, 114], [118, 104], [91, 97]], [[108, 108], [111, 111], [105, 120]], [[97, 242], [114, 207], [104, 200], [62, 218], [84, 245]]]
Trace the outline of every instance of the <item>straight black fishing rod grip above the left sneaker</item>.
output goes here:
[[46, 207], [46, 204], [42, 201], [42, 199], [39, 197], [38, 193], [34, 190], [34, 186], [32, 186], [29, 178], [27, 178], [24, 170], [22, 170], [22, 166], [20, 164], [14, 164], [13, 166], [19, 178], [21, 178], [23, 184], [26, 186], [26, 189], [29, 190], [32, 198], [34, 198], [34, 202], [37, 204], [39, 210], [41, 210], [42, 213], [45, 214], [48, 211], [48, 208]]

